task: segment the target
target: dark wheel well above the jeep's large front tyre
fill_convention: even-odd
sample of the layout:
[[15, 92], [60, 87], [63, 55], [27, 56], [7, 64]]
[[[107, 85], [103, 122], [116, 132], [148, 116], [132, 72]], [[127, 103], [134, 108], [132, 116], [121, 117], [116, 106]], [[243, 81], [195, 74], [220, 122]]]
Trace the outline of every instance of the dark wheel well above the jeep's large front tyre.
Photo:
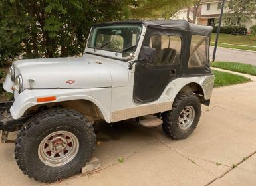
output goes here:
[[31, 108], [28, 108], [25, 114], [34, 114], [37, 112], [41, 112], [42, 110], [56, 107], [70, 108], [72, 110], [76, 110], [77, 112], [84, 114], [90, 121], [104, 119], [104, 116], [98, 106], [88, 100], [68, 100], [63, 102], [38, 104], [32, 106]]

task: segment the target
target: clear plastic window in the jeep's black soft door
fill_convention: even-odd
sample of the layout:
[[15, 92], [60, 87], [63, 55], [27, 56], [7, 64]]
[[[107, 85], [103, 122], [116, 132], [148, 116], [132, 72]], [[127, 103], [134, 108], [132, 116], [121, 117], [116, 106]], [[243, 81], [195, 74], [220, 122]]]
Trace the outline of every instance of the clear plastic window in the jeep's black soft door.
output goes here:
[[149, 46], [156, 49], [154, 65], [170, 65], [180, 63], [182, 39], [174, 35], [152, 35]]

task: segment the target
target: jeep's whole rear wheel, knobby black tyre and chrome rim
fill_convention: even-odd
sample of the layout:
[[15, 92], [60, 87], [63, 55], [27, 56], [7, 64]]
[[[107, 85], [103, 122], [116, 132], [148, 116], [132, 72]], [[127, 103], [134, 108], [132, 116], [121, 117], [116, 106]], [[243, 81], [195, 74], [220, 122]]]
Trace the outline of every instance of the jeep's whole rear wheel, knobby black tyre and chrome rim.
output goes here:
[[201, 103], [192, 93], [179, 94], [172, 110], [162, 114], [162, 129], [172, 139], [187, 138], [195, 130], [201, 116]]

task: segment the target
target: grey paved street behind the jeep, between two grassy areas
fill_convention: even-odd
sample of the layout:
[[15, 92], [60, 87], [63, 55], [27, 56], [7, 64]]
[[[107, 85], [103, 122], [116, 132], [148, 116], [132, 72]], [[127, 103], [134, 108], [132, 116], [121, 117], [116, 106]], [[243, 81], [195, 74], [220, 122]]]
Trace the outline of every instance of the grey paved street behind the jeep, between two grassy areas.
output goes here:
[[[212, 59], [213, 48], [210, 46], [210, 59]], [[256, 65], [256, 52], [217, 47], [215, 60]]]

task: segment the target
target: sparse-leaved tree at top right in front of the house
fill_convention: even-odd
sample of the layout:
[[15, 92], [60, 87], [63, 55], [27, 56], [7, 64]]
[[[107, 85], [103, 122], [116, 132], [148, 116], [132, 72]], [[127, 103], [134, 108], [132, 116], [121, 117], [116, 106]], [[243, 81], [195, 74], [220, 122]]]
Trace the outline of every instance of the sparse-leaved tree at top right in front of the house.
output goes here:
[[244, 25], [256, 18], [255, 0], [231, 0], [227, 6], [229, 11], [223, 15], [226, 25]]

